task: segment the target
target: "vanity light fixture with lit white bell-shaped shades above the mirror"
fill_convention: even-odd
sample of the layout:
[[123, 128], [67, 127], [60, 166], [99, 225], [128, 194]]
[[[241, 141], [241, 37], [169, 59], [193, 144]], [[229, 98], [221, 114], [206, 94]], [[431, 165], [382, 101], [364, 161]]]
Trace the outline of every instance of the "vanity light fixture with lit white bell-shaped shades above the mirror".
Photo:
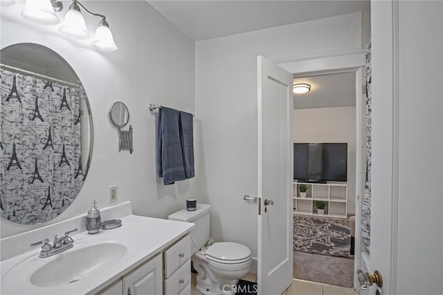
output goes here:
[[[102, 51], [116, 51], [117, 46], [112, 37], [111, 30], [109, 30], [105, 15], [87, 10], [78, 0], [72, 0], [69, 10], [64, 16], [63, 24], [59, 28], [60, 32], [78, 39], [88, 39], [91, 37], [86, 28], [80, 6], [84, 11], [88, 12], [89, 15], [101, 17], [96, 29], [96, 34], [93, 37], [92, 45]], [[25, 8], [21, 12], [21, 16], [39, 24], [53, 25], [60, 22], [55, 12], [59, 12], [62, 9], [62, 0], [26, 0]]]

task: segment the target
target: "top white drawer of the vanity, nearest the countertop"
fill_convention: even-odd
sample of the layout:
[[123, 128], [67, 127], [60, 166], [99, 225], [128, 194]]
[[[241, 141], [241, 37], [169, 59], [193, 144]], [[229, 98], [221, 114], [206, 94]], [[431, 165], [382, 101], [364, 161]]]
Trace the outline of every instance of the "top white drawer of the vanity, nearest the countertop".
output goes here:
[[191, 256], [191, 239], [186, 235], [165, 251], [165, 278], [169, 278]]

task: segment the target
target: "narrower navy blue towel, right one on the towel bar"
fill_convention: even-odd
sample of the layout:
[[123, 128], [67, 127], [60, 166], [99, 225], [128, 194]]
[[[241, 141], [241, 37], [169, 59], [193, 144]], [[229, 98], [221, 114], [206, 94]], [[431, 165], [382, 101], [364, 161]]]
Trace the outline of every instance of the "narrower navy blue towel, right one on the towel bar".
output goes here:
[[186, 179], [195, 176], [194, 170], [194, 127], [192, 114], [180, 111], [180, 139], [183, 167]]

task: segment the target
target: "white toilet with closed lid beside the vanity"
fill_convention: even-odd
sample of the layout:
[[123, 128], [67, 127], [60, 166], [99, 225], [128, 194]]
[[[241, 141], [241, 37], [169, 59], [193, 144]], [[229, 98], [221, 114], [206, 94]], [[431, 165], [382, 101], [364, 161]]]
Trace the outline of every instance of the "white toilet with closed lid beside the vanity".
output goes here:
[[251, 269], [251, 250], [234, 242], [213, 243], [209, 237], [209, 214], [210, 205], [197, 204], [197, 210], [183, 209], [168, 219], [196, 225], [190, 235], [192, 264], [199, 273], [197, 290], [206, 295], [235, 294], [233, 287]]

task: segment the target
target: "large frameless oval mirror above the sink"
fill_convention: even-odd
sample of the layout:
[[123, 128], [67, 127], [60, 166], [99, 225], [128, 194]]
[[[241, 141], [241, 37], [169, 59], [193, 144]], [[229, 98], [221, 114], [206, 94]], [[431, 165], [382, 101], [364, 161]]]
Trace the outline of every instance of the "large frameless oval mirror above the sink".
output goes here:
[[60, 215], [87, 177], [93, 124], [71, 66], [39, 44], [2, 48], [0, 212], [19, 224]]

